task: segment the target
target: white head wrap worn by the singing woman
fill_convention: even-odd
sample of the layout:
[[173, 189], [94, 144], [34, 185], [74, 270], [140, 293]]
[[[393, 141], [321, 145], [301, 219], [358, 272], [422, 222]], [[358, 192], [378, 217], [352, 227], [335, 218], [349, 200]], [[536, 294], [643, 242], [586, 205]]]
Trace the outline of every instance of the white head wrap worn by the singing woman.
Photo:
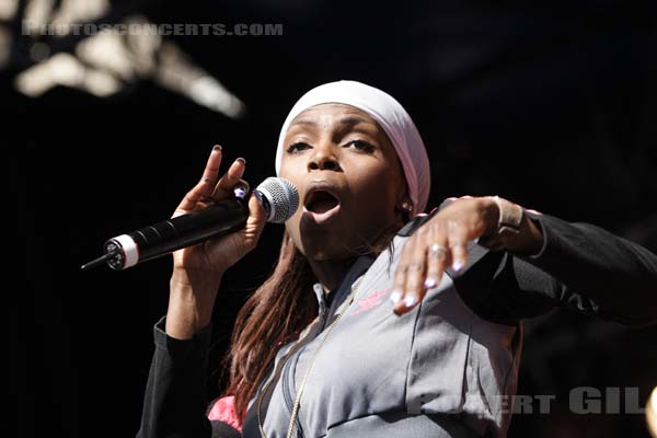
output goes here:
[[430, 189], [429, 159], [424, 142], [411, 116], [390, 94], [356, 81], [337, 81], [316, 87], [307, 92], [288, 114], [276, 150], [276, 174], [285, 150], [285, 135], [290, 123], [303, 111], [323, 103], [342, 103], [364, 111], [383, 128], [392, 142], [408, 185], [415, 216], [425, 210]]

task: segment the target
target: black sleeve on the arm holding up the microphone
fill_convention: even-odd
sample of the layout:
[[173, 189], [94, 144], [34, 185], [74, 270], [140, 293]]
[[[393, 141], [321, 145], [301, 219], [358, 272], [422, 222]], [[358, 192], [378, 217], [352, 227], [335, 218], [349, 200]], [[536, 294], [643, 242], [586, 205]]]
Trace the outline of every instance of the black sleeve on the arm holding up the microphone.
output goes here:
[[181, 341], [166, 335], [164, 322], [153, 327], [155, 348], [137, 438], [239, 438], [230, 425], [206, 415], [211, 326]]

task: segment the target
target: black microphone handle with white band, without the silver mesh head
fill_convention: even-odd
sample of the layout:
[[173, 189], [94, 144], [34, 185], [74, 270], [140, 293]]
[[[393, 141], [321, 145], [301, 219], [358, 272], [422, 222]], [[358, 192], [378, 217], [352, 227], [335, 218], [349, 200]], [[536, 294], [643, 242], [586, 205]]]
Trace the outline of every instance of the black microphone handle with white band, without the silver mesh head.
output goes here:
[[105, 242], [106, 262], [115, 270], [125, 269], [192, 246], [205, 240], [229, 234], [244, 228], [249, 205], [243, 198], [226, 199], [203, 210], [143, 227]]

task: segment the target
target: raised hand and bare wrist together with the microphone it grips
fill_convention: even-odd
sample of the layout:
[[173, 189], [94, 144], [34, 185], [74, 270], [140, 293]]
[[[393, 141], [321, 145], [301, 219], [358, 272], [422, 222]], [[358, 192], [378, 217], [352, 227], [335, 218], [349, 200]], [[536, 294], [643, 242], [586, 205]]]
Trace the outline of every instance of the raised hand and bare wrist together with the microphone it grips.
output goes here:
[[119, 270], [173, 253], [165, 330], [178, 339], [209, 324], [223, 273], [255, 247], [265, 222], [285, 222], [299, 205], [296, 187], [275, 177], [246, 199], [244, 160], [218, 178], [221, 157], [221, 147], [212, 148], [200, 181], [171, 219], [110, 239], [105, 255], [82, 266], [106, 262]]

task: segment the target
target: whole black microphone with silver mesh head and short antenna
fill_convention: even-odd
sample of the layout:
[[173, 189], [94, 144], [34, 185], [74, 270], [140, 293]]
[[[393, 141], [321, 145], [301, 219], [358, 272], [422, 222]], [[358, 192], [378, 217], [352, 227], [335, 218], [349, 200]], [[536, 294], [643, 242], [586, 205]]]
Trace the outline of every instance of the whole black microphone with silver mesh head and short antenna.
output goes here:
[[[297, 187], [286, 178], [268, 177], [253, 193], [267, 215], [267, 222], [283, 223], [299, 207]], [[80, 268], [87, 270], [105, 262], [114, 270], [126, 269], [182, 247], [241, 230], [247, 218], [249, 197], [245, 188], [238, 186], [233, 198], [107, 240], [104, 255]]]

